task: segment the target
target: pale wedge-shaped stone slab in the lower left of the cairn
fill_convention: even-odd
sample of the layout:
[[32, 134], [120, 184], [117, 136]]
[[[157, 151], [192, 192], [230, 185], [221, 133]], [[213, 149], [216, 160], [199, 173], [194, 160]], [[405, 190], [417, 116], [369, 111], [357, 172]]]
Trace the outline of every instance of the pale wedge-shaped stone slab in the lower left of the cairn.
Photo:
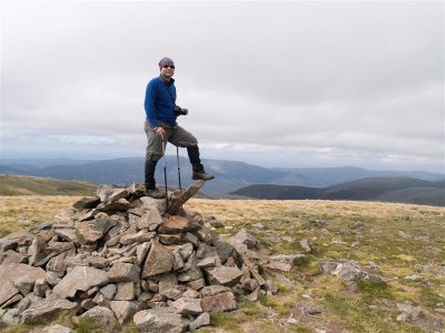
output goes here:
[[52, 290], [53, 294], [66, 299], [73, 297], [77, 291], [87, 291], [108, 282], [108, 274], [98, 269], [75, 266]]

